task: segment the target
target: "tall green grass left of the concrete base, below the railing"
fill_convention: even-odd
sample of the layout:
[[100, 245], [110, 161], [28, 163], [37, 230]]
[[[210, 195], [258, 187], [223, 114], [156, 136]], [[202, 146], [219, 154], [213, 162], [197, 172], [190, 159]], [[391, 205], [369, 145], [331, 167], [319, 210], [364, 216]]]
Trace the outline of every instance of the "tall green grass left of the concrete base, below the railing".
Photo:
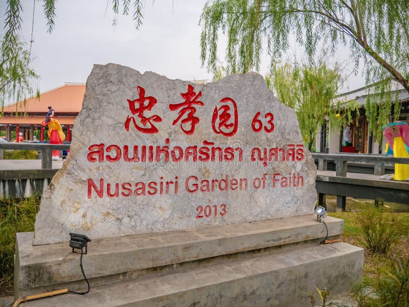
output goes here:
[[0, 200], [0, 289], [13, 284], [16, 232], [34, 231], [39, 204], [36, 196], [21, 201]]

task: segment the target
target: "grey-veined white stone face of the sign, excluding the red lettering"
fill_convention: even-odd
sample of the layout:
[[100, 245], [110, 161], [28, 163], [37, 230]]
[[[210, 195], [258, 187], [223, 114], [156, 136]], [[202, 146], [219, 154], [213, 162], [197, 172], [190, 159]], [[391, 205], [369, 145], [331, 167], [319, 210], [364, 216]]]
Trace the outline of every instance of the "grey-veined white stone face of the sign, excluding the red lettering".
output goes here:
[[[204, 105], [194, 105], [194, 115], [199, 123], [192, 135], [181, 130], [180, 121], [172, 125], [180, 109], [169, 110], [169, 104], [184, 102], [181, 93], [188, 91], [188, 84], [151, 72], [142, 75], [137, 70], [117, 64], [94, 66], [87, 80], [82, 110], [75, 121], [71, 156], [42, 197], [35, 223], [35, 245], [69, 241], [69, 232], [84, 233], [90, 239], [99, 239], [300, 216], [312, 212], [316, 201], [316, 167], [308, 149], [304, 148], [302, 161], [292, 161], [291, 157], [289, 161], [282, 161], [281, 154], [278, 161], [267, 161], [266, 166], [260, 161], [251, 161], [253, 148], [260, 148], [263, 156], [264, 148], [267, 151], [276, 147], [288, 151], [288, 145], [303, 144], [296, 114], [274, 97], [262, 76], [255, 73], [232, 75], [218, 82], [194, 85], [196, 93], [201, 91], [202, 96], [198, 100]], [[145, 89], [145, 97], [157, 99], [156, 105], [151, 111], [145, 111], [144, 116], [159, 115], [162, 118], [162, 122], [153, 123], [158, 133], [138, 132], [132, 122], [129, 131], [124, 128], [127, 116], [132, 116], [127, 99], [139, 98], [137, 86]], [[215, 105], [220, 107], [220, 100], [225, 97], [234, 99], [237, 104], [238, 129], [232, 137], [216, 134], [211, 124]], [[252, 130], [252, 120], [257, 112], [261, 112], [259, 118], [266, 129], [270, 126], [267, 126], [268, 118], [265, 119], [264, 115], [274, 115], [272, 123], [275, 129], [272, 133]], [[180, 120], [187, 115], [184, 114]], [[134, 117], [138, 122], [139, 117]], [[185, 130], [190, 128], [189, 124], [183, 127]], [[153, 146], [156, 150], [156, 146], [166, 146], [166, 139], [170, 140], [170, 150], [175, 146], [184, 150], [189, 146], [199, 149], [204, 140], [212, 141], [214, 147], [222, 149], [242, 148], [243, 161], [238, 161], [238, 152], [235, 152], [234, 161], [221, 162], [217, 160], [217, 153], [214, 162], [193, 162], [191, 157], [188, 161], [164, 162], [164, 155], [160, 162], [126, 162], [123, 157], [117, 162], [107, 161], [107, 155], [116, 156], [115, 150], [105, 151], [103, 162], [87, 160], [88, 148], [94, 144], [103, 143], [105, 149], [109, 145], [118, 145], [123, 156], [124, 145], [129, 146], [132, 155], [134, 145], [139, 148], [142, 145]], [[276, 187], [272, 187], [275, 173], [280, 174], [276, 175], [278, 179], [295, 173], [303, 177], [304, 184], [281, 187], [278, 181]], [[261, 178], [263, 174], [266, 174], [265, 188], [256, 190], [253, 180]], [[216, 186], [214, 192], [186, 191], [185, 180], [189, 176], [196, 176], [200, 184], [201, 180], [220, 180], [226, 175], [229, 180], [246, 178], [247, 189], [220, 191]], [[148, 184], [155, 181], [159, 186], [161, 177], [164, 181], [175, 181], [175, 176], [178, 177], [177, 195], [174, 184], [170, 185], [168, 195], [121, 195], [121, 192], [128, 194], [127, 190], [122, 189], [123, 183], [130, 183], [132, 192], [138, 193], [135, 188], [137, 182]], [[92, 179], [99, 189], [101, 178], [104, 180], [103, 197], [98, 197], [91, 188], [88, 198], [88, 179]], [[107, 196], [107, 183], [111, 185], [112, 194], [115, 194], [116, 183], [119, 183], [119, 197]], [[226, 214], [221, 216], [223, 204], [226, 205]], [[196, 218], [197, 207], [207, 205], [212, 209], [210, 217]], [[213, 206], [217, 206], [216, 216]]]

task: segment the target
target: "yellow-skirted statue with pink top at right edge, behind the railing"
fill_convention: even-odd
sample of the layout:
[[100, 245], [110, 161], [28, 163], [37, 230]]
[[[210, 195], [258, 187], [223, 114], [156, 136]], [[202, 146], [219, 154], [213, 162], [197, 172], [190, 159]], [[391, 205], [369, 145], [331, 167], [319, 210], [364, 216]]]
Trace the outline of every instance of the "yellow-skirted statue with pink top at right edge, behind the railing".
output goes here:
[[[387, 138], [393, 155], [398, 158], [409, 158], [409, 126], [403, 122], [388, 124], [383, 135]], [[394, 180], [409, 180], [409, 164], [395, 164]]]

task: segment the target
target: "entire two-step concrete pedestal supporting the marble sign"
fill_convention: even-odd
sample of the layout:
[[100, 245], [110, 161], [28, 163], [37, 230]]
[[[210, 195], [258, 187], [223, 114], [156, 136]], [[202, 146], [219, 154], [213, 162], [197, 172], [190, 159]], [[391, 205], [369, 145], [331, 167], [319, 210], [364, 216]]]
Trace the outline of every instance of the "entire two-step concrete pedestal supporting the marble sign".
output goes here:
[[[343, 221], [326, 218], [330, 238]], [[320, 245], [324, 224], [292, 217], [92, 241], [83, 267], [91, 290], [26, 306], [307, 306], [318, 288], [350, 291], [362, 276], [363, 250]], [[67, 244], [32, 246], [18, 233], [15, 295], [84, 290], [79, 254]]]

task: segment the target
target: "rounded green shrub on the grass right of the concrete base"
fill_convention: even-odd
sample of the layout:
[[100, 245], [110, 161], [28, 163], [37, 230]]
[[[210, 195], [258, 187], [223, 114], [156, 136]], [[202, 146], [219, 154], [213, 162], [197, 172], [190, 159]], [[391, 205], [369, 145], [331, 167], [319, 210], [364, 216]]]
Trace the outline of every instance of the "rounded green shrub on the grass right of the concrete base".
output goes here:
[[358, 240], [374, 253], [386, 253], [403, 234], [402, 222], [391, 210], [365, 208], [355, 214], [355, 219], [363, 232], [363, 238]]

